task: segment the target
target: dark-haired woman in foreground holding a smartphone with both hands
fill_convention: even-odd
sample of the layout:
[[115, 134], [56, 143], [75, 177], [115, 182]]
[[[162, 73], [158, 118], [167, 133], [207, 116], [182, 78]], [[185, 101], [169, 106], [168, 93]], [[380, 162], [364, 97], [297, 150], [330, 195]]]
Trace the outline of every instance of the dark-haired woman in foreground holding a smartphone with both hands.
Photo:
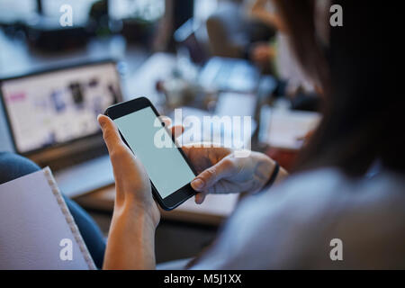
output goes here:
[[[193, 269], [405, 268], [405, 98], [383, 97], [381, 55], [373, 35], [381, 7], [342, 1], [344, 25], [314, 0], [275, 1], [294, 54], [324, 98], [323, 119], [291, 175], [257, 152], [184, 147], [208, 193], [251, 195], [239, 202]], [[334, 4], [334, 3], [331, 3]], [[316, 13], [323, 22], [315, 23]], [[379, 66], [380, 65], [380, 66]], [[105, 269], [154, 269], [160, 219], [148, 175], [100, 115], [116, 182]], [[372, 173], [373, 172], [373, 173]], [[274, 182], [274, 186], [272, 183]], [[340, 261], [331, 243], [340, 240]]]

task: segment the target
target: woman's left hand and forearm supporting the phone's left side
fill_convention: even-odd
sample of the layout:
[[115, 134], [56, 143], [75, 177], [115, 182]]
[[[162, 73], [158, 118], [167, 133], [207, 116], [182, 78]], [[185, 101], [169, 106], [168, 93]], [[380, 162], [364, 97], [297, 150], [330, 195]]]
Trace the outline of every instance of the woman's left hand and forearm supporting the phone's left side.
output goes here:
[[[110, 154], [116, 191], [103, 269], [154, 269], [154, 238], [160, 212], [150, 180], [139, 159], [122, 141], [114, 122], [104, 115], [97, 120]], [[172, 132], [177, 130], [182, 128], [173, 127]]]

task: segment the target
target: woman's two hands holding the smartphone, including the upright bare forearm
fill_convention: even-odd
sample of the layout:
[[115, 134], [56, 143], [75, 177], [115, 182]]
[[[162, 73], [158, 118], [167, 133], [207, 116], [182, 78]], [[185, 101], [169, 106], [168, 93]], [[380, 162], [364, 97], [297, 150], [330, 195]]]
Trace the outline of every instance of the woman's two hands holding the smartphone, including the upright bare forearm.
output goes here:
[[[103, 268], [153, 269], [153, 243], [160, 212], [152, 196], [150, 180], [139, 159], [122, 141], [114, 122], [104, 115], [100, 115], [98, 121], [110, 154], [116, 189]], [[163, 121], [167, 126], [170, 124], [169, 119]], [[182, 133], [183, 127], [173, 127], [175, 137], [179, 136], [176, 132]], [[271, 158], [257, 152], [241, 158], [235, 157], [229, 148], [188, 145], [183, 150], [199, 173], [192, 181], [193, 188], [200, 192], [195, 195], [197, 203], [203, 202], [207, 193], [258, 191], [275, 166]], [[127, 250], [122, 251], [123, 247]]]

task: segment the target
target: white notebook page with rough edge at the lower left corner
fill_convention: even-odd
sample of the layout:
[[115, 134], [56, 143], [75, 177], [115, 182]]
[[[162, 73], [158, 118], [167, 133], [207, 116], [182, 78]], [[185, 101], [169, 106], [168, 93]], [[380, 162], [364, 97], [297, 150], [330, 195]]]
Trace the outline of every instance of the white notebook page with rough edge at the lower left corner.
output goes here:
[[0, 185], [0, 269], [95, 269], [48, 167]]

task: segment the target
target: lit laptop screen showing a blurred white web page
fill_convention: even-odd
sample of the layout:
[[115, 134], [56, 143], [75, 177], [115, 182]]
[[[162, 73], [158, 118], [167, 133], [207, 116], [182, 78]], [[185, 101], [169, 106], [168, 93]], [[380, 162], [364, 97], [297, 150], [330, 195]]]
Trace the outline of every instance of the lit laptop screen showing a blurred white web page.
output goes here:
[[7, 79], [0, 85], [20, 153], [94, 135], [99, 132], [97, 115], [121, 99], [113, 62]]

